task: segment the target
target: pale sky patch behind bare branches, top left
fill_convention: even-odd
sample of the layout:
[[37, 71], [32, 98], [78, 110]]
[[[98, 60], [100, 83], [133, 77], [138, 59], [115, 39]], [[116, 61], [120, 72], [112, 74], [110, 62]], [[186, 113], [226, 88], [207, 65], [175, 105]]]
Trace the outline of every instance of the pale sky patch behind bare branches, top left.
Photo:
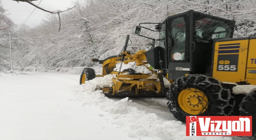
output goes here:
[[[73, 7], [72, 1], [73, 0], [42, 0], [39, 6], [49, 11], [66, 10], [68, 8]], [[33, 1], [33, 3], [36, 5], [39, 2], [40, 0]], [[17, 25], [22, 24], [35, 8], [34, 6], [28, 4], [27, 2], [18, 3], [13, 0], [2, 0], [2, 4], [4, 9], [8, 10], [8, 12], [6, 13], [10, 13], [9, 17]], [[25, 22], [25, 24], [30, 27], [37, 26], [46, 16], [46, 13], [48, 12], [36, 9], [30, 16], [30, 18]]]

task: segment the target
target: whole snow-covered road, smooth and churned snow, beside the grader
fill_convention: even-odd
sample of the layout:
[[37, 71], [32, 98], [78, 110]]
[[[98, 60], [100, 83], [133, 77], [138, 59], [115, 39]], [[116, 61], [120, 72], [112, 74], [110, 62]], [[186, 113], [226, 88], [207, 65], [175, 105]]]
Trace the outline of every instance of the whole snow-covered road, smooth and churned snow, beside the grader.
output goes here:
[[[231, 140], [185, 136], [165, 98], [107, 98], [79, 75], [0, 74], [0, 140]], [[111, 100], [113, 99], [113, 100]]]

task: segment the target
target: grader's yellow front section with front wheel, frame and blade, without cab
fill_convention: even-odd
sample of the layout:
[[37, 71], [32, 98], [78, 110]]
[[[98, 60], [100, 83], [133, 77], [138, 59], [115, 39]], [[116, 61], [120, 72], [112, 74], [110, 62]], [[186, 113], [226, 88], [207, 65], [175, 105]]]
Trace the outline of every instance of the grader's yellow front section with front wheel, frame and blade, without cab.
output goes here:
[[[150, 59], [154, 52], [140, 50], [131, 54], [130, 51], [126, 51], [129, 37], [127, 35], [124, 51], [120, 55], [110, 56], [104, 60], [92, 59], [93, 62], [102, 64], [102, 75], [96, 75], [92, 68], [84, 68], [80, 76], [80, 84], [95, 77], [116, 74], [116, 77], [113, 78], [113, 86], [100, 88], [105, 96], [166, 96], [169, 87], [164, 84], [164, 74], [147, 66], [147, 59]], [[145, 66], [151, 73], [139, 73], [131, 68], [120, 72], [122, 63], [128, 64], [129, 62], [136, 62], [137, 66]], [[120, 63], [119, 72], [114, 71], [117, 63]], [[166, 79], [165, 82], [170, 84], [172, 80]]]

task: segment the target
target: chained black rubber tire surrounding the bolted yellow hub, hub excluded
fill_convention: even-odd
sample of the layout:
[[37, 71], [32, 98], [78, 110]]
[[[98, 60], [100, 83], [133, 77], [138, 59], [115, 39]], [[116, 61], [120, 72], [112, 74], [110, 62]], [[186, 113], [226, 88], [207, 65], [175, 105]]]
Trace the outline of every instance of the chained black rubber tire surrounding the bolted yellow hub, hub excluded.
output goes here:
[[[198, 114], [188, 114], [180, 108], [178, 95], [182, 90], [195, 88], [207, 97], [207, 108]], [[186, 116], [228, 116], [231, 115], [235, 100], [230, 90], [215, 78], [202, 74], [183, 76], [174, 81], [166, 94], [168, 108], [175, 118], [186, 123]]]

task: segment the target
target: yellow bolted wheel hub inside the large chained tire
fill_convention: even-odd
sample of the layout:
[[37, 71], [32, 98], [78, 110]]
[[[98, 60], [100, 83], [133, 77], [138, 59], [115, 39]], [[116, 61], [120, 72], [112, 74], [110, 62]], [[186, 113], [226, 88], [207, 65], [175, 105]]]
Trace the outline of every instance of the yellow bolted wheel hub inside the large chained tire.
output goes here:
[[208, 107], [207, 103], [208, 99], [204, 93], [195, 88], [182, 90], [178, 95], [180, 108], [188, 114], [198, 115], [205, 112]]

